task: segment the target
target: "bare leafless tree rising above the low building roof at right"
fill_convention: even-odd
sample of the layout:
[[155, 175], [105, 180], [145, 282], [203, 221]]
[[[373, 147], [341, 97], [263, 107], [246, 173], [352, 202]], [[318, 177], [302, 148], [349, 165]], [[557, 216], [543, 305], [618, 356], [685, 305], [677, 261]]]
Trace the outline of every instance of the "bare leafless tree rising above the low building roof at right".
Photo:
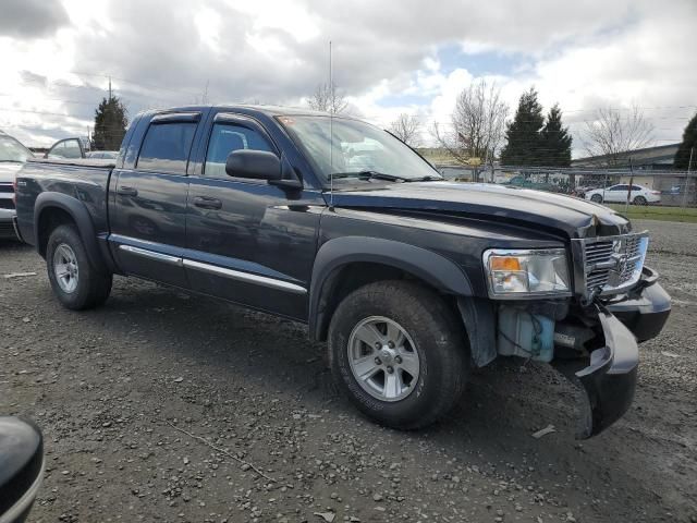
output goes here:
[[653, 142], [653, 125], [637, 106], [625, 114], [617, 109], [600, 108], [592, 121], [586, 121], [583, 142], [588, 156], [600, 157], [599, 163], [617, 166], [626, 160], [626, 153]]

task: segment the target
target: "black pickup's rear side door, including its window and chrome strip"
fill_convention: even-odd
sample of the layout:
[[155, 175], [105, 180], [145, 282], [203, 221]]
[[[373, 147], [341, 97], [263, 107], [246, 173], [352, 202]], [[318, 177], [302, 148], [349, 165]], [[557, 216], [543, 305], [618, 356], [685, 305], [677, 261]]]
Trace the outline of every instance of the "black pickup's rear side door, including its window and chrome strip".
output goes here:
[[127, 273], [187, 287], [186, 171], [199, 119], [198, 112], [155, 115], [132, 168], [112, 175], [109, 239]]

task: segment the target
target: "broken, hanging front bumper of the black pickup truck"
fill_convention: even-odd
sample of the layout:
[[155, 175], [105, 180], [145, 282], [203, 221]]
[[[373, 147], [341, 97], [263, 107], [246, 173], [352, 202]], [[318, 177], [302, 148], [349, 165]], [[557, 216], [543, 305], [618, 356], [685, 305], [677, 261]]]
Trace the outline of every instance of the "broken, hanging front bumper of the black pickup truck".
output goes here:
[[579, 439], [600, 434], [629, 409], [639, 363], [638, 341], [656, 337], [668, 320], [670, 296], [657, 283], [658, 275], [644, 269], [643, 279], [627, 295], [598, 304], [603, 346], [590, 353], [585, 368], [554, 362], [560, 372], [582, 387]]

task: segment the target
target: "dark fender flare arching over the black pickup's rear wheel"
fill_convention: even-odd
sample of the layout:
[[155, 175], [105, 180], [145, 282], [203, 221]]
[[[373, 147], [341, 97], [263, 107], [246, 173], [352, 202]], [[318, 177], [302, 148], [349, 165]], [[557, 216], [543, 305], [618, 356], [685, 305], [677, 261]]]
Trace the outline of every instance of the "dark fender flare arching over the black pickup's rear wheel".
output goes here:
[[109, 270], [101, 255], [95, 226], [89, 217], [87, 207], [77, 198], [69, 196], [68, 194], [46, 192], [39, 194], [36, 198], [36, 204], [34, 205], [34, 238], [36, 239], [37, 252], [41, 254], [41, 245], [39, 242], [41, 214], [51, 208], [61, 209], [72, 217], [77, 226], [77, 231], [83, 240], [90, 264], [100, 272], [108, 272]]

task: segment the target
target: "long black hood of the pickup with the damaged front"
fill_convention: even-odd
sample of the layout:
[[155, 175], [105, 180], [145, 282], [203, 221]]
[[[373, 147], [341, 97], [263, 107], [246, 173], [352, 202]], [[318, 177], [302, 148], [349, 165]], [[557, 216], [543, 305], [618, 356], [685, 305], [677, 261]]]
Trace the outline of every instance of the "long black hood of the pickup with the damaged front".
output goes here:
[[488, 183], [409, 182], [339, 190], [335, 207], [403, 209], [457, 215], [563, 231], [568, 238], [629, 232], [614, 210], [573, 196]]

